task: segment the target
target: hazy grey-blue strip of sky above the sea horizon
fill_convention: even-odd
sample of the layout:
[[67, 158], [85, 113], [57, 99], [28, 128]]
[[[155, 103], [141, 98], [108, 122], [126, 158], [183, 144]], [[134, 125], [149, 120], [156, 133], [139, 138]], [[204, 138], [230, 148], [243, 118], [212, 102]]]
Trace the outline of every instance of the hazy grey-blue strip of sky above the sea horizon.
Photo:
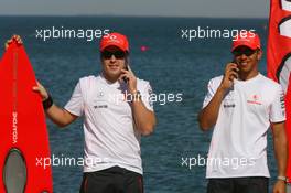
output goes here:
[[267, 0], [0, 0], [0, 15], [268, 18]]

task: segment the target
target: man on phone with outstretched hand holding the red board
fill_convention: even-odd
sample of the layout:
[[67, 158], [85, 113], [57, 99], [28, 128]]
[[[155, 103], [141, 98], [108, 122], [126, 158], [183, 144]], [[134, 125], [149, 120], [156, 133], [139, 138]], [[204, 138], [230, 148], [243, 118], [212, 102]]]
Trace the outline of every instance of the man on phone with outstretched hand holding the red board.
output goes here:
[[149, 82], [134, 76], [129, 43], [110, 33], [100, 40], [103, 71], [79, 79], [64, 108], [39, 84], [46, 115], [60, 127], [84, 116], [85, 165], [80, 193], [142, 193], [140, 137], [153, 131]]

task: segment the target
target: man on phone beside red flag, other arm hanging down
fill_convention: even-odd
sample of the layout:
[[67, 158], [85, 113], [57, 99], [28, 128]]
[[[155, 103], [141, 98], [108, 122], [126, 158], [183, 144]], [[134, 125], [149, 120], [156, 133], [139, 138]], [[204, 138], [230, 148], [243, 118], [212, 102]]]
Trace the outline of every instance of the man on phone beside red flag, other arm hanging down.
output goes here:
[[287, 137], [284, 94], [261, 75], [258, 34], [241, 31], [233, 42], [234, 61], [209, 81], [198, 115], [202, 130], [213, 130], [208, 152], [207, 193], [268, 193], [267, 131], [272, 127], [278, 181], [285, 192]]

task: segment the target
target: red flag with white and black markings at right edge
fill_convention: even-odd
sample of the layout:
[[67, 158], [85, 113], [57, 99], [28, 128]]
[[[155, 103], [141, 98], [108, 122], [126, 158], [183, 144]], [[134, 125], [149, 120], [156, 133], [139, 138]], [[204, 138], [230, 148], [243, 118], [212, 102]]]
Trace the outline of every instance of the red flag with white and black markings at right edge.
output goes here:
[[287, 96], [287, 133], [289, 161], [287, 176], [291, 180], [291, 0], [271, 0], [267, 47], [268, 76], [279, 82]]

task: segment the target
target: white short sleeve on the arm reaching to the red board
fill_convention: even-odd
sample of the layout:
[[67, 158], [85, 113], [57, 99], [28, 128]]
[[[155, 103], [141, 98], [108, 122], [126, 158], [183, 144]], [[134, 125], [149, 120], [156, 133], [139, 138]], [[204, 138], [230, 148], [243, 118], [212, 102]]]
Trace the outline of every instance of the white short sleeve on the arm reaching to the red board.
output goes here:
[[65, 109], [75, 116], [82, 116], [84, 112], [84, 103], [83, 103], [80, 84], [78, 83], [74, 89], [74, 93], [65, 105]]

